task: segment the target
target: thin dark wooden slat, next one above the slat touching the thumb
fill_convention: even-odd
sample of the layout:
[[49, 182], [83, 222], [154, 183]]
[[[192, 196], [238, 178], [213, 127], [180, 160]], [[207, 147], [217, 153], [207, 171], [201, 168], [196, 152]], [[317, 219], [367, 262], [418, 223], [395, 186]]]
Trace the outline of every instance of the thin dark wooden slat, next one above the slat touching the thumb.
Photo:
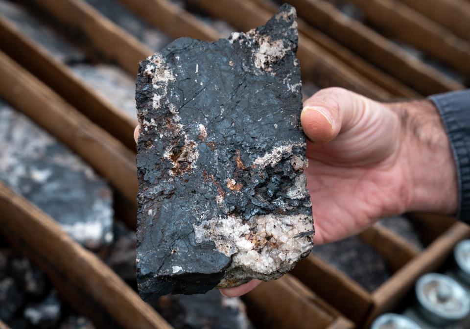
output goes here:
[[[252, 0], [261, 8], [274, 14], [278, 6], [271, 0]], [[325, 48], [330, 56], [336, 56], [338, 59], [346, 63], [353, 70], [359, 72], [377, 86], [387, 90], [394, 96], [401, 97], [419, 97], [420, 94], [402, 84], [397, 79], [388, 75], [387, 73], [378, 70], [370, 63], [363, 60], [361, 57], [354, 54], [351, 50], [341, 46], [333, 39], [330, 39], [327, 35], [323, 34], [319, 30], [309, 26], [302, 19], [297, 19], [299, 31], [305, 34], [306, 37], [313, 40], [321, 47]]]

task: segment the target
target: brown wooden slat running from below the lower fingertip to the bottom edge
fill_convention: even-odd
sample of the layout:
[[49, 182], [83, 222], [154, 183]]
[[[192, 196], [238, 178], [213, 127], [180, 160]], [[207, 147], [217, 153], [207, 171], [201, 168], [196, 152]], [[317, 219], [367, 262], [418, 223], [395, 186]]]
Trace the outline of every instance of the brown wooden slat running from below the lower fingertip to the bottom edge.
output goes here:
[[323, 329], [339, 316], [329, 313], [312, 291], [289, 274], [262, 282], [243, 299], [265, 316], [268, 328]]

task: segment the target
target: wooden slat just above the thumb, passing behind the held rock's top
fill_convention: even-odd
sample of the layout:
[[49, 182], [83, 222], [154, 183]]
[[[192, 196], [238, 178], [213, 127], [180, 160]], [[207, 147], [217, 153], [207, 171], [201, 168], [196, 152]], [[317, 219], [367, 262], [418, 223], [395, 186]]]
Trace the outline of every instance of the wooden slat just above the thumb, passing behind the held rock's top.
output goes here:
[[[226, 20], [240, 30], [246, 31], [263, 25], [271, 18], [269, 12], [247, 0], [191, 1], [203, 7], [211, 15]], [[243, 17], [243, 19], [239, 19], [240, 17]], [[348, 88], [382, 100], [391, 97], [390, 93], [331, 57], [327, 51], [302, 33], [299, 33], [297, 55], [301, 63], [304, 80], [312, 81], [320, 87], [339, 86]]]

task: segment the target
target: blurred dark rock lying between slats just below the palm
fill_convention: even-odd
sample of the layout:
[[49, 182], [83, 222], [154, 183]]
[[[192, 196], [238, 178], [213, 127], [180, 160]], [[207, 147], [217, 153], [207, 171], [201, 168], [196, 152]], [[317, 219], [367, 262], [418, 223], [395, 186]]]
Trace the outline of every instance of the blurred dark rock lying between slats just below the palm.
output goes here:
[[312, 252], [368, 291], [376, 290], [390, 278], [385, 259], [357, 236], [316, 246]]

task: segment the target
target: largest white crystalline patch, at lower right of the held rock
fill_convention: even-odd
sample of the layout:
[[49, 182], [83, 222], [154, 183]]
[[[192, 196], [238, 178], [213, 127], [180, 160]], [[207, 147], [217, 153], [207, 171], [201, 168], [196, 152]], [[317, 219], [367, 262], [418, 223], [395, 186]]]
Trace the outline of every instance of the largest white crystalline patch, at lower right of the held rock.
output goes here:
[[299, 236], [313, 231], [311, 217], [268, 214], [253, 216], [244, 222], [229, 215], [194, 224], [196, 242], [211, 240], [217, 250], [232, 256], [229, 268], [242, 267], [271, 274], [290, 265], [311, 248], [311, 239]]

